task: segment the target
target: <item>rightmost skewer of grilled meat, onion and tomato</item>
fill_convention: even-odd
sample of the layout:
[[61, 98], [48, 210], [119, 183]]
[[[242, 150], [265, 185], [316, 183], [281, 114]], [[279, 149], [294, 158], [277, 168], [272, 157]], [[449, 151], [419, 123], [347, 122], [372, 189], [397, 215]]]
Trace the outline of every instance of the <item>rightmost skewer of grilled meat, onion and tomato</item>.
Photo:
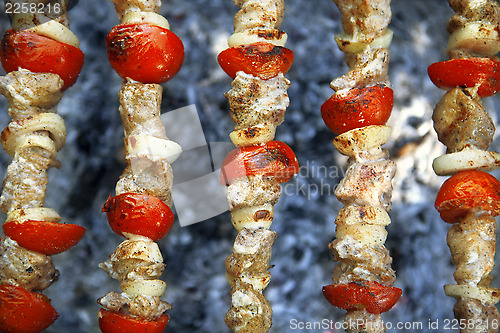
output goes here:
[[500, 155], [487, 151], [495, 126], [481, 98], [500, 90], [500, 5], [496, 1], [450, 0], [455, 14], [448, 21], [450, 60], [434, 63], [432, 82], [447, 92], [437, 103], [434, 129], [447, 147], [436, 158], [438, 175], [452, 175], [440, 188], [436, 209], [453, 226], [447, 242], [456, 285], [445, 293], [457, 299], [455, 318], [460, 332], [497, 332], [495, 304], [500, 290], [490, 286], [495, 255], [494, 216], [500, 214], [500, 182], [487, 171], [498, 168]]

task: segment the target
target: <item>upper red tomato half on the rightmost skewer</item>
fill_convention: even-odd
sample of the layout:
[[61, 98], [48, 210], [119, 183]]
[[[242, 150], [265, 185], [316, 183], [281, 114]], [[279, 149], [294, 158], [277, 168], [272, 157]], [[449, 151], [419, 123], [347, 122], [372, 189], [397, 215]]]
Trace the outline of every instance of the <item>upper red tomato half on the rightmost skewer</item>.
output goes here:
[[431, 81], [441, 89], [471, 88], [487, 97], [500, 90], [500, 61], [489, 58], [462, 58], [436, 62], [427, 69]]

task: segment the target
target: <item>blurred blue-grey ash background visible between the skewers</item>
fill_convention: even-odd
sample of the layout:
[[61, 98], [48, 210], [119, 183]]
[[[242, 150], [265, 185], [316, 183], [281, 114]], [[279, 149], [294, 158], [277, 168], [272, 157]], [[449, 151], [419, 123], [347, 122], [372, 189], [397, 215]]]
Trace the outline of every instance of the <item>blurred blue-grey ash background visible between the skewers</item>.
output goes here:
[[[432, 160], [444, 152], [431, 115], [444, 91], [430, 82], [427, 67], [447, 59], [446, 22], [453, 12], [445, 0], [394, 0], [392, 9], [389, 76], [395, 105], [389, 121], [392, 139], [385, 147], [398, 171], [386, 245], [394, 258], [395, 286], [403, 290], [403, 296], [383, 318], [393, 327], [388, 332], [440, 332], [453, 318], [455, 301], [445, 296], [443, 285], [454, 282], [454, 266], [446, 245], [449, 225], [433, 208], [445, 177], [435, 176], [431, 168]], [[231, 79], [219, 68], [216, 57], [227, 47], [237, 10], [230, 0], [169, 0], [161, 8], [186, 50], [179, 74], [163, 84], [163, 112], [194, 106], [209, 143], [229, 143], [233, 128], [223, 97]], [[54, 257], [61, 275], [45, 294], [60, 317], [46, 332], [93, 333], [99, 332], [96, 299], [119, 290], [117, 281], [97, 268], [122, 241], [101, 213], [125, 167], [117, 95], [122, 80], [109, 66], [104, 44], [118, 18], [110, 1], [96, 0], [80, 0], [69, 16], [86, 55], [85, 64], [79, 80], [59, 104], [67, 141], [58, 155], [61, 168], [49, 172], [45, 205], [55, 208], [63, 221], [84, 226], [87, 233], [79, 245]], [[0, 31], [9, 27], [2, 12]], [[321, 104], [333, 93], [329, 82], [347, 71], [344, 55], [334, 42], [334, 35], [341, 31], [340, 14], [329, 0], [287, 0], [281, 29], [288, 34], [286, 46], [293, 50], [295, 62], [286, 75], [292, 82], [290, 106], [276, 139], [295, 151], [301, 169], [284, 185], [275, 208], [272, 229], [278, 238], [271, 262], [275, 267], [265, 291], [274, 310], [271, 332], [342, 332], [335, 323], [342, 320], [344, 311], [330, 306], [321, 293], [322, 286], [331, 283], [334, 263], [327, 246], [334, 238], [333, 221], [342, 207], [333, 192], [347, 168], [347, 158], [334, 150], [333, 134], [320, 115]], [[483, 102], [496, 121], [498, 97]], [[5, 99], [0, 98], [2, 128], [10, 121], [6, 108]], [[190, 136], [192, 132], [181, 134]], [[490, 150], [499, 146], [495, 137]], [[2, 179], [10, 160], [0, 151]], [[187, 160], [183, 168], [197, 170], [202, 164], [196, 158]], [[178, 173], [176, 163], [173, 168]], [[191, 205], [196, 211], [203, 206], [203, 198]], [[224, 260], [235, 236], [225, 212], [185, 227], [176, 221], [159, 242], [167, 264], [164, 299], [173, 305], [169, 332], [229, 331], [224, 324], [230, 305]], [[498, 287], [498, 268], [493, 273], [493, 285]], [[439, 329], [429, 328], [429, 322], [436, 321]], [[315, 323], [329, 325], [306, 328]], [[406, 329], [397, 329], [398, 323]]]

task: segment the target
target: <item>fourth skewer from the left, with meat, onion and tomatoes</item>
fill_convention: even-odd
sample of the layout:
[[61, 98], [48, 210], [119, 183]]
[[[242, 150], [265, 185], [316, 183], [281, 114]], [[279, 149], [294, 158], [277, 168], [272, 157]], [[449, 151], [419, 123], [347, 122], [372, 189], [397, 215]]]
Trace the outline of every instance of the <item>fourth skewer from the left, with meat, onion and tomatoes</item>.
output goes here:
[[392, 31], [389, 0], [334, 0], [343, 32], [335, 37], [345, 53], [349, 72], [334, 79], [335, 93], [321, 106], [333, 144], [349, 156], [349, 168], [335, 195], [344, 204], [335, 220], [335, 240], [329, 249], [339, 262], [325, 298], [347, 310], [348, 332], [385, 332], [381, 313], [401, 296], [391, 285], [396, 277], [384, 246], [391, 222], [391, 181], [395, 163], [381, 145], [389, 140], [385, 123], [393, 107], [387, 76]]

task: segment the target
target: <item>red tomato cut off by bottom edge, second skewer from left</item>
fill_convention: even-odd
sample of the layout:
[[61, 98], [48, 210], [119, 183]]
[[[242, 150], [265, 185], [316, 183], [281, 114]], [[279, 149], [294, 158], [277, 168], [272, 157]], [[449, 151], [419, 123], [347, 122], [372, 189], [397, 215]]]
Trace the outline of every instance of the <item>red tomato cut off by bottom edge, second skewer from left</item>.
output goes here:
[[102, 333], [163, 333], [169, 320], [165, 313], [153, 321], [104, 309], [99, 310], [98, 317]]

